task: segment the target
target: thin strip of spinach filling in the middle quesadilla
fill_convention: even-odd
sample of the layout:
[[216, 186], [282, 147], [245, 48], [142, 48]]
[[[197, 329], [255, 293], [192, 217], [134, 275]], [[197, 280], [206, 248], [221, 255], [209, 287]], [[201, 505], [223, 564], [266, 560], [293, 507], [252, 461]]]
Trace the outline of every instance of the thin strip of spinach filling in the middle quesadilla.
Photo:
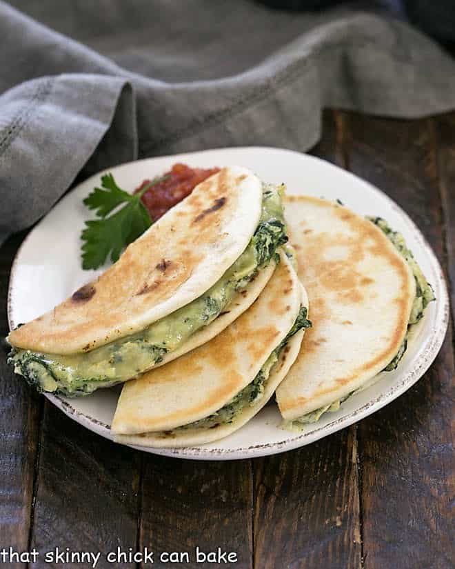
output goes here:
[[270, 373], [276, 362], [279, 360], [281, 350], [286, 346], [287, 342], [290, 340], [296, 332], [299, 332], [302, 328], [311, 328], [311, 321], [307, 319], [307, 308], [302, 306], [299, 310], [299, 315], [297, 315], [294, 324], [285, 339], [277, 346], [272, 354], [267, 358], [261, 370], [257, 373], [251, 383], [243, 388], [237, 395], [235, 395], [229, 403], [226, 403], [218, 411], [212, 413], [204, 419], [199, 419], [199, 421], [193, 421], [187, 425], [177, 427], [170, 431], [163, 431], [163, 436], [173, 436], [178, 435], [179, 432], [183, 432], [188, 429], [213, 429], [221, 425], [233, 423], [239, 413], [247, 406], [254, 406], [258, 401], [263, 398], [265, 386], [267, 380], [270, 377]]

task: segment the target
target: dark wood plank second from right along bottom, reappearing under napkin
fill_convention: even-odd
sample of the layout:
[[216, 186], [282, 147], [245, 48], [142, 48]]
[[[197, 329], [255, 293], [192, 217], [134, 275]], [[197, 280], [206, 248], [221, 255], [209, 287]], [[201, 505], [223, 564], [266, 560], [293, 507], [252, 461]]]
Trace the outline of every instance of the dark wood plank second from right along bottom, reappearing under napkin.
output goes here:
[[[345, 117], [325, 111], [312, 154], [346, 167]], [[352, 426], [284, 455], [254, 461], [254, 567], [361, 567], [357, 438]]]

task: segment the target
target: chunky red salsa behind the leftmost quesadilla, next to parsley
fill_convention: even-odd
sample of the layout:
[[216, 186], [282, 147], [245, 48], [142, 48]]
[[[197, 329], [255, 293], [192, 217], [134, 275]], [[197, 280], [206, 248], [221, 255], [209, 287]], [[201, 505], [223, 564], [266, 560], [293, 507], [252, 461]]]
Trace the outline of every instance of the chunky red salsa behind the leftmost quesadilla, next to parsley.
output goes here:
[[[144, 206], [148, 209], [153, 221], [159, 219], [172, 206], [187, 197], [192, 190], [206, 178], [219, 172], [219, 168], [190, 168], [185, 164], [174, 164], [169, 172], [165, 172], [165, 179], [156, 183], [150, 190], [145, 192], [142, 197]], [[141, 186], [134, 190], [139, 192], [151, 180], [144, 180]]]

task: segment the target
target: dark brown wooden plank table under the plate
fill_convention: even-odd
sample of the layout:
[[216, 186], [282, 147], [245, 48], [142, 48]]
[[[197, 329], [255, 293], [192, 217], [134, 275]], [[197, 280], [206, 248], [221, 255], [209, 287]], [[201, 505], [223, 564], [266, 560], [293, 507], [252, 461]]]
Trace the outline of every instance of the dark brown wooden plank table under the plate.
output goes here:
[[[455, 114], [398, 121], [327, 111], [312, 154], [376, 184], [410, 214], [449, 275], [453, 307]], [[0, 250], [1, 335], [23, 237]], [[57, 546], [147, 547], [158, 568], [229, 566], [156, 557], [193, 557], [196, 546], [236, 552], [230, 566], [242, 569], [453, 568], [453, 348], [451, 323], [425, 377], [383, 410], [300, 450], [231, 462], [155, 457], [110, 443], [37, 396], [2, 355], [0, 548], [37, 548], [31, 566], [39, 568], [61, 567], [43, 557]], [[141, 566], [105, 557], [97, 564]]]

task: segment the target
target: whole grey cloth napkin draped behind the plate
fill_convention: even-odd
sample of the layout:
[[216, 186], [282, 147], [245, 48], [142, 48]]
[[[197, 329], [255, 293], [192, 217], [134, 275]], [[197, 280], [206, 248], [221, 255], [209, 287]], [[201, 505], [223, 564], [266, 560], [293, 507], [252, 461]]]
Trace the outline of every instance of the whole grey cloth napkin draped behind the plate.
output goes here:
[[347, 8], [0, 1], [0, 37], [0, 243], [78, 172], [220, 146], [307, 150], [327, 106], [408, 118], [455, 108], [441, 48]]

